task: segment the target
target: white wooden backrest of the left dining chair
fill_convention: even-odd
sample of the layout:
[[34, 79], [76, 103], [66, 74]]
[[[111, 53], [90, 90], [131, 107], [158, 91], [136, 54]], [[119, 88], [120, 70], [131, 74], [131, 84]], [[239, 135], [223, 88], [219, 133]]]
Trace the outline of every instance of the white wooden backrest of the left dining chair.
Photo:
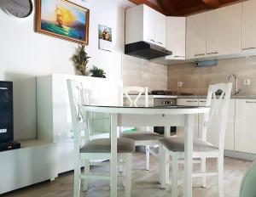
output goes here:
[[80, 149], [81, 132], [84, 131], [84, 143], [87, 143], [89, 138], [89, 124], [87, 122], [86, 113], [82, 110], [82, 104], [90, 104], [91, 91], [85, 89], [81, 82], [67, 79], [67, 91], [70, 103], [72, 116], [72, 128], [75, 149]]

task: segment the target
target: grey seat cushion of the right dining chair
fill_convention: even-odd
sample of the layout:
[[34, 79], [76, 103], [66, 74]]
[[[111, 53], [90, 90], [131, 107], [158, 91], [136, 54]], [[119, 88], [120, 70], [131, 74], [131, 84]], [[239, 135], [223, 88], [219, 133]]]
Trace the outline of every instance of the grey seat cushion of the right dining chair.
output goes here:
[[[184, 152], [184, 138], [183, 137], [171, 137], [160, 139], [160, 144], [163, 144], [166, 149], [172, 152]], [[200, 138], [194, 138], [193, 151], [218, 151], [218, 148], [214, 147], [211, 143], [201, 140]]]

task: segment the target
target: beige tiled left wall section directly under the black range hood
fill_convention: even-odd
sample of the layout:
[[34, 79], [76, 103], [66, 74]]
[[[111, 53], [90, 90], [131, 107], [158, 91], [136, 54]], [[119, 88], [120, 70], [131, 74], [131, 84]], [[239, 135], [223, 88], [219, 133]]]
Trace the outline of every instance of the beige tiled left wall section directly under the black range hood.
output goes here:
[[148, 60], [123, 55], [124, 86], [148, 87], [150, 90], [167, 89], [167, 66]]

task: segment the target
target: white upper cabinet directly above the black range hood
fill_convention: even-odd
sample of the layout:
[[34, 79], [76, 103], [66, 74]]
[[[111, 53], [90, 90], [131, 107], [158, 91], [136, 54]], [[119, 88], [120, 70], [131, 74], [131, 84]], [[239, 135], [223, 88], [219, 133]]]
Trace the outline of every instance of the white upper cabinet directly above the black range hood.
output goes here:
[[144, 4], [125, 11], [125, 43], [140, 41], [166, 48], [166, 16]]

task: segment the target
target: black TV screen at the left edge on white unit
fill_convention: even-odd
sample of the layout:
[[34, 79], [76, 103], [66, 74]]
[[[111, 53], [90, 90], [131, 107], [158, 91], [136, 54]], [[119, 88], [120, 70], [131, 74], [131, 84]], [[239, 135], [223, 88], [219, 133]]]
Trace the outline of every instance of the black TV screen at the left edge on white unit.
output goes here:
[[13, 82], [0, 81], [0, 143], [14, 141]]

